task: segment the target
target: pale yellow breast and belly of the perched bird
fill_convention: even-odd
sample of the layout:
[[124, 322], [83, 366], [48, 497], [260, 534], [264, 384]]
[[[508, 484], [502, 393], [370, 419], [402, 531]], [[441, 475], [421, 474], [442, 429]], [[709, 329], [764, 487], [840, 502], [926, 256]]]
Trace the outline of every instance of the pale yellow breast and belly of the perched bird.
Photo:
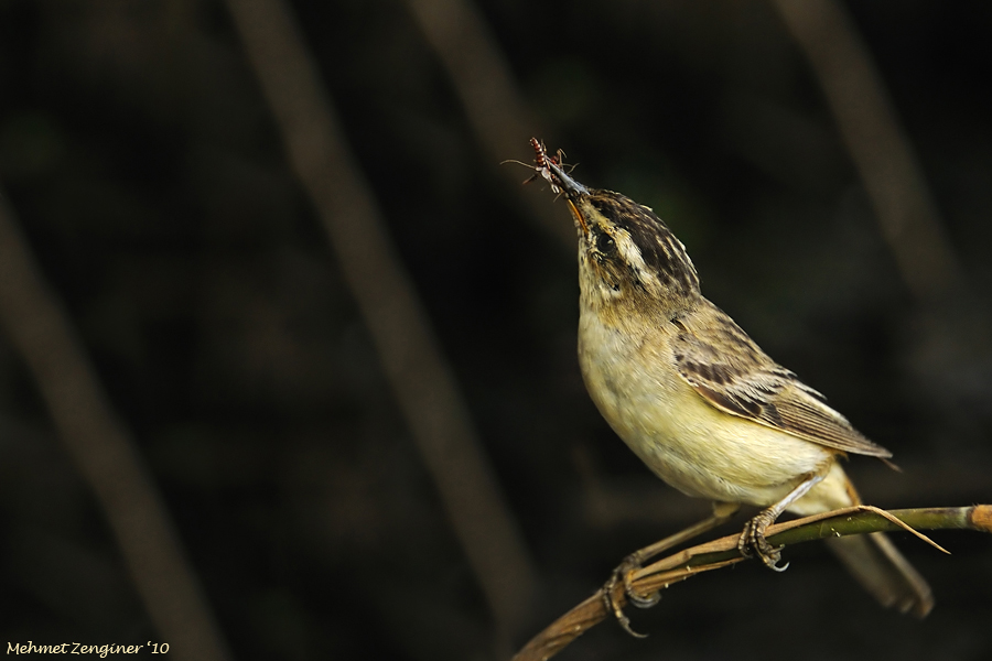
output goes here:
[[688, 496], [767, 507], [804, 476], [829, 470], [790, 509], [812, 513], [850, 503], [843, 472], [830, 470], [831, 451], [715, 409], [653, 339], [632, 347], [587, 318], [580, 323], [580, 362], [593, 401], [658, 477]]

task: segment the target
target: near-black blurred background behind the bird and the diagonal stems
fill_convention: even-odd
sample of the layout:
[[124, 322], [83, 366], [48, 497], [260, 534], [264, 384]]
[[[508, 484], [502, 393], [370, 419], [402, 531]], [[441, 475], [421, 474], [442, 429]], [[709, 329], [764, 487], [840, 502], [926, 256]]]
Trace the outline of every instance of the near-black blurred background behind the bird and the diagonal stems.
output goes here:
[[[707, 506], [587, 399], [574, 256], [508, 198], [408, 7], [293, 8], [539, 570], [522, 643]], [[901, 280], [769, 4], [478, 8], [574, 175], [654, 207], [704, 293], [895, 453], [902, 474], [851, 460], [865, 500], [992, 498], [992, 6], [849, 8], [967, 277], [970, 344]], [[503, 158], [529, 162], [527, 138]], [[235, 657], [486, 658], [485, 603], [225, 6], [0, 1], [0, 180]], [[570, 224], [541, 188], [520, 194]], [[6, 338], [0, 524], [0, 644], [154, 638]], [[952, 556], [896, 535], [936, 594], [923, 622], [807, 545], [783, 575], [748, 563], [669, 589], [633, 614], [646, 641], [607, 624], [561, 658], [992, 658], [990, 542], [935, 537]]]

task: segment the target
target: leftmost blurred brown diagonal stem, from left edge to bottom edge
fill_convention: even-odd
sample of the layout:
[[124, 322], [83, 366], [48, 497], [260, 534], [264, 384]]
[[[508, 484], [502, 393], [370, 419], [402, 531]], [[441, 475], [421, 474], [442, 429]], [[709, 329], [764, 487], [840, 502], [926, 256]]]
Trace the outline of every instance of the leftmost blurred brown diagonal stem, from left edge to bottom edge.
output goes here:
[[68, 316], [45, 284], [2, 188], [0, 322], [94, 490], [159, 635], [179, 659], [229, 659], [165, 505]]

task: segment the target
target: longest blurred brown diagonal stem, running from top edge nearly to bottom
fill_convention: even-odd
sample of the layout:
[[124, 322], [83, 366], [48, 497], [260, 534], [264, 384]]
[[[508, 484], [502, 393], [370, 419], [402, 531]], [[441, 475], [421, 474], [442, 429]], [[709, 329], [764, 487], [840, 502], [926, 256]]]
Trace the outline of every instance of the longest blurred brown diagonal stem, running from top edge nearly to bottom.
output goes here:
[[227, 4], [497, 631], [511, 637], [531, 606], [536, 572], [313, 57], [284, 1]]

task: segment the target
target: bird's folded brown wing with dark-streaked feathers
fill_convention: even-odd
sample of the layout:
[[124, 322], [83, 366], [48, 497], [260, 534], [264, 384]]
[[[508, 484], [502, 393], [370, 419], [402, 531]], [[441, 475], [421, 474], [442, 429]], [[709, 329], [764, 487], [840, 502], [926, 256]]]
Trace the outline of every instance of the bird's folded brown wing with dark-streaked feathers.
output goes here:
[[865, 438], [826, 398], [772, 360], [730, 316], [672, 319], [679, 373], [713, 407], [827, 447], [875, 457], [892, 453]]

